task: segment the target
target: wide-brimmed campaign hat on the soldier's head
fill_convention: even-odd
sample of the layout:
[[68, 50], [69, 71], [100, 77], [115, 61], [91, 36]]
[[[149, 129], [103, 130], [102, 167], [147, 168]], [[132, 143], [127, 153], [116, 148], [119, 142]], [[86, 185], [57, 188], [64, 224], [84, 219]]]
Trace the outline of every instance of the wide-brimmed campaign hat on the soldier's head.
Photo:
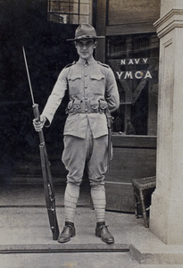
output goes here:
[[99, 39], [104, 38], [103, 36], [96, 36], [96, 29], [87, 23], [82, 23], [75, 31], [75, 38], [67, 39], [67, 41], [77, 41], [81, 39]]

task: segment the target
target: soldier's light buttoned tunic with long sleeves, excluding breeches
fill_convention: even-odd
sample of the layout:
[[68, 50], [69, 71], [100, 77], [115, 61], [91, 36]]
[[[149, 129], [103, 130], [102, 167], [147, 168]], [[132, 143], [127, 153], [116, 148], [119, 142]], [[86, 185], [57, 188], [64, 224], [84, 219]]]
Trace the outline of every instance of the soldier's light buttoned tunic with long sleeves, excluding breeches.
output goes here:
[[[70, 96], [68, 110], [72, 109], [73, 113], [69, 113], [67, 117], [63, 134], [85, 138], [89, 122], [94, 138], [107, 135], [105, 114], [95, 113], [95, 109], [96, 103], [104, 100], [112, 112], [120, 105], [118, 88], [112, 69], [95, 60], [87, 64], [79, 61], [66, 66], [61, 71], [42, 113], [49, 121], [48, 124], [51, 124], [54, 113], [68, 89]], [[82, 107], [82, 113], [77, 113], [77, 109], [80, 109], [80, 101], [84, 108]], [[74, 104], [77, 105], [73, 109]]]

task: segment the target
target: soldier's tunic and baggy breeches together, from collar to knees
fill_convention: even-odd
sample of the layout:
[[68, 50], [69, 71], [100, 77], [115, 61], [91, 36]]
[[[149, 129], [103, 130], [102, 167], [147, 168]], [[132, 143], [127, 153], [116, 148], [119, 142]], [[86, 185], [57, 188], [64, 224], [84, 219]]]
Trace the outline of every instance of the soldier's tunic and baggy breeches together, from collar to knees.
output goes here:
[[[64, 138], [66, 140], [64, 140], [62, 161], [69, 170], [68, 180], [80, 183], [88, 148], [80, 146], [79, 141], [84, 144], [88, 129], [94, 139], [108, 134], [104, 111], [107, 107], [111, 111], [118, 108], [119, 94], [113, 72], [108, 65], [95, 60], [90, 63], [83, 63], [79, 60], [77, 63], [66, 66], [58, 77], [42, 113], [49, 123], [53, 120], [54, 113], [61, 104], [67, 89], [69, 89], [70, 102], [63, 134], [64, 136], [72, 136], [70, 138], [75, 141], [76, 145], [72, 143], [70, 150], [67, 138]], [[77, 138], [73, 138], [73, 136]], [[96, 159], [93, 160], [92, 154], [89, 154], [92, 163], [89, 165], [88, 172], [89, 179], [98, 184], [104, 180], [104, 172], [106, 172], [107, 167], [107, 138], [104, 138], [104, 150], [100, 146], [99, 139], [96, 147], [96, 154], [93, 154]], [[99, 157], [100, 159], [97, 161]], [[98, 162], [101, 163], [100, 166], [98, 166]], [[98, 170], [99, 168], [100, 170]], [[79, 171], [76, 172], [76, 170]]]

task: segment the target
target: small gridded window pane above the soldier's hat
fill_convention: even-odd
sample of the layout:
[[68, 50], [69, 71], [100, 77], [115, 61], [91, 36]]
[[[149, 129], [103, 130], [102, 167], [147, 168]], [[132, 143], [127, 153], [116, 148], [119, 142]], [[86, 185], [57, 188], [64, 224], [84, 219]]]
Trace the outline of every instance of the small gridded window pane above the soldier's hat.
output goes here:
[[91, 0], [48, 0], [47, 14], [56, 23], [91, 23]]

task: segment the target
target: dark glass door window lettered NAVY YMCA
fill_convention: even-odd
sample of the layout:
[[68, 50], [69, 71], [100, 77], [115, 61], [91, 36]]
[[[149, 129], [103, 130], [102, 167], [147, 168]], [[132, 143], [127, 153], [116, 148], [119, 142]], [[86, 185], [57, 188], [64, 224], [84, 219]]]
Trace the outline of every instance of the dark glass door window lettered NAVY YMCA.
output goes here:
[[156, 136], [158, 59], [155, 34], [107, 38], [106, 63], [115, 73], [121, 97], [113, 132]]

